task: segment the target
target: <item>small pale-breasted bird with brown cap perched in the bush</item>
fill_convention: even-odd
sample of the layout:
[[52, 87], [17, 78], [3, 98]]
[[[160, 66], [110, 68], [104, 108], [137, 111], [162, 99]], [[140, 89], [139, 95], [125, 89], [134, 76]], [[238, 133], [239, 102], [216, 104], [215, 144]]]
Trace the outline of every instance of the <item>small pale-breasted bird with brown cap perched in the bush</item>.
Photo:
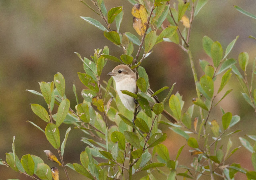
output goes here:
[[[130, 110], [134, 110], [134, 98], [131, 96], [128, 96], [127, 94], [123, 94], [121, 90], [128, 90], [135, 94], [136, 91], [136, 74], [131, 70], [131, 68], [127, 65], [121, 64], [116, 66], [112, 72], [108, 73], [109, 76], [113, 76], [115, 82], [116, 82], [116, 91], [118, 93], [118, 96], [120, 97], [122, 103], [124, 106]], [[154, 94], [154, 92], [148, 88], [148, 96], [151, 96]], [[156, 96], [153, 96], [152, 99], [155, 103], [160, 102]], [[150, 107], [152, 108], [154, 106], [154, 103], [149, 102]], [[138, 108], [138, 111], [140, 111], [141, 108]], [[162, 112], [162, 115], [166, 117], [170, 122], [177, 123], [177, 120], [169, 114], [166, 110]]]

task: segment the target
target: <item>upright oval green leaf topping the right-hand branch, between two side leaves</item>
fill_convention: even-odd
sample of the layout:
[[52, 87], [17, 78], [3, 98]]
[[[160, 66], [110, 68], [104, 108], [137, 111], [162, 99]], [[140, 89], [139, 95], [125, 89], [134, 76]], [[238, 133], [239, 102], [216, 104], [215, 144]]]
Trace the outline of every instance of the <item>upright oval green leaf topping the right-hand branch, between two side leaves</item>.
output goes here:
[[223, 55], [222, 46], [218, 41], [215, 41], [212, 44], [212, 48], [211, 48], [211, 56], [212, 56], [214, 67], [217, 68], [219, 66], [220, 61], [222, 60], [222, 55]]

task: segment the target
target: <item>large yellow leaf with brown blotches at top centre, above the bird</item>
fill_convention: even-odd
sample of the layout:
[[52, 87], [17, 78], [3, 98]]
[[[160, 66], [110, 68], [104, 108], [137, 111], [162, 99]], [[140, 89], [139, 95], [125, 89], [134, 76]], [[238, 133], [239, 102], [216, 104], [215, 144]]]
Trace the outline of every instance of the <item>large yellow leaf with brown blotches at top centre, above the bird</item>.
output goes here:
[[[144, 34], [146, 31], [146, 25], [148, 22], [148, 13], [147, 13], [145, 6], [143, 6], [139, 3], [135, 4], [132, 8], [132, 15], [135, 18], [137, 18], [137, 20], [135, 20], [136, 23], [138, 23], [139, 19], [140, 19], [140, 23], [138, 23], [140, 25], [137, 24], [136, 27], [140, 27], [142, 29], [142, 30], [140, 30], [140, 32], [143, 32], [143, 34]], [[133, 22], [134, 22], [134, 19], [133, 19]], [[136, 28], [134, 28], [134, 29], [136, 30]], [[138, 30], [136, 30], [136, 32], [138, 33]], [[138, 33], [138, 34], [140, 35], [141, 33]], [[140, 35], [140, 36], [142, 36], [142, 35]]]

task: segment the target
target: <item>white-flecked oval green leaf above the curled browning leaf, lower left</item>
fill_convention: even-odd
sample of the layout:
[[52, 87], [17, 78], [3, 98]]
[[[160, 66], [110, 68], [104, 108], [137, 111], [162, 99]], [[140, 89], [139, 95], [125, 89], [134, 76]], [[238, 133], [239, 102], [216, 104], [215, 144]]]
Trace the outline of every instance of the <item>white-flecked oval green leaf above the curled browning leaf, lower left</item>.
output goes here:
[[60, 147], [60, 132], [58, 126], [53, 123], [48, 123], [45, 128], [45, 135], [55, 149]]

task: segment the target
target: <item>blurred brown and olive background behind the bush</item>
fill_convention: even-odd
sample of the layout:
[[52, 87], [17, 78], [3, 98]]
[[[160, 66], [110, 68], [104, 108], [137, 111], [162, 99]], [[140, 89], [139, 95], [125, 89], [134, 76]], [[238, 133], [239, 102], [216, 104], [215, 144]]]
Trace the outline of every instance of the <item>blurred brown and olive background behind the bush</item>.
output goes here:
[[[87, 1], [92, 5], [89, 0]], [[130, 13], [132, 4], [126, 0], [105, 0], [105, 4], [107, 10], [123, 5], [124, 20], [120, 32], [136, 34], [132, 28], [133, 17]], [[198, 78], [203, 75], [199, 59], [210, 60], [202, 48], [202, 37], [207, 35], [214, 41], [218, 40], [225, 50], [226, 46], [239, 35], [228, 58], [238, 60], [240, 52], [248, 52], [250, 81], [252, 61], [256, 56], [256, 40], [248, 36], [256, 36], [256, 20], [239, 13], [233, 5], [255, 14], [256, 2], [254, 0], [210, 0], [193, 21], [190, 47]], [[29, 104], [37, 103], [46, 107], [46, 103], [43, 98], [31, 94], [26, 89], [40, 91], [38, 82], [51, 82], [54, 74], [61, 72], [66, 80], [66, 96], [70, 99], [71, 107], [74, 108], [76, 102], [72, 92], [73, 82], [76, 84], [80, 102], [82, 102], [80, 92], [84, 89], [77, 75], [77, 72], [84, 72], [82, 62], [74, 52], [89, 58], [94, 54], [94, 49], [103, 49], [107, 45], [111, 55], [120, 57], [123, 53], [121, 48], [104, 38], [101, 30], [86, 23], [79, 16], [90, 16], [104, 24], [97, 14], [79, 0], [0, 0], [0, 158], [3, 160], [6, 159], [6, 152], [12, 152], [12, 137], [16, 136], [16, 154], [19, 158], [30, 153], [40, 156], [50, 167], [57, 166], [47, 160], [43, 152], [43, 150], [51, 150], [56, 153], [56, 150], [48, 143], [42, 132], [26, 122], [30, 120], [44, 129], [46, 123], [32, 112]], [[183, 29], [182, 25], [181, 29]], [[136, 52], [138, 47], [134, 45], [134, 48]], [[174, 82], [177, 82], [173, 93], [179, 91], [183, 95], [183, 100], [185, 100], [183, 110], [186, 110], [192, 105], [192, 98], [196, 97], [187, 54], [176, 44], [167, 42], [157, 44], [153, 51], [142, 64], [148, 73], [152, 90], [172, 86]], [[102, 74], [107, 74], [116, 65], [114, 62], [109, 62]], [[105, 80], [108, 78], [104, 77]], [[220, 79], [217, 79], [216, 83], [220, 84]], [[242, 88], [238, 85], [234, 75], [222, 92], [230, 88], [234, 90], [220, 103], [220, 106], [225, 112], [232, 112], [233, 115], [237, 114], [241, 117], [240, 122], [232, 130], [243, 130], [231, 137], [233, 149], [241, 145], [238, 140], [239, 136], [255, 135], [256, 118], [253, 108], [243, 99], [240, 93]], [[166, 94], [167, 91], [163, 92], [160, 99], [163, 99]], [[169, 111], [168, 107], [166, 109]], [[198, 109], [195, 108], [195, 110]], [[213, 109], [209, 120], [213, 119], [221, 123], [221, 111], [218, 107]], [[61, 141], [68, 127], [68, 125], [60, 127]], [[165, 126], [160, 126], [160, 128], [168, 134], [168, 139], [164, 144], [169, 149], [170, 158], [174, 159], [178, 149], [186, 144], [186, 140]], [[80, 152], [86, 147], [80, 141], [84, 135], [79, 130], [71, 130], [64, 154], [65, 163], [80, 160]], [[223, 143], [227, 141], [228, 139], [224, 139]], [[225, 147], [226, 144], [224, 144], [224, 149]], [[189, 149], [185, 146], [179, 158], [179, 162], [186, 166], [190, 166], [189, 162], [193, 159], [188, 152]], [[253, 170], [251, 153], [244, 147], [240, 148], [227, 163], [229, 162], [240, 163], [242, 167]], [[59, 171], [60, 179], [65, 179], [62, 168], [59, 167]], [[69, 168], [68, 173], [72, 179], [83, 178]], [[0, 166], [0, 174], [1, 179], [27, 179], [5, 166]], [[134, 179], [141, 176], [142, 173], [134, 176]], [[246, 177], [238, 172], [236, 178], [245, 179]]]

